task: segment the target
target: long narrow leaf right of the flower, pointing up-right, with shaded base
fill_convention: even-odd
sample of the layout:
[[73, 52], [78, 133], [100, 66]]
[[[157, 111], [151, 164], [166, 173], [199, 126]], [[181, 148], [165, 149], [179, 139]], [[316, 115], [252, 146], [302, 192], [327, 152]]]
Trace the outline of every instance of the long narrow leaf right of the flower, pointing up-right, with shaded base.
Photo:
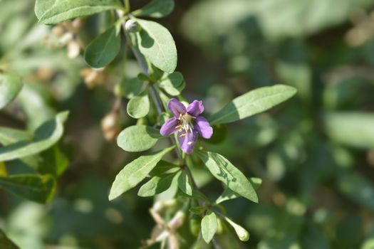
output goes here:
[[242, 120], [259, 112], [269, 110], [296, 94], [296, 89], [288, 85], [273, 85], [271, 87], [258, 88], [244, 93], [229, 102], [217, 113], [209, 117], [209, 122], [222, 124]]

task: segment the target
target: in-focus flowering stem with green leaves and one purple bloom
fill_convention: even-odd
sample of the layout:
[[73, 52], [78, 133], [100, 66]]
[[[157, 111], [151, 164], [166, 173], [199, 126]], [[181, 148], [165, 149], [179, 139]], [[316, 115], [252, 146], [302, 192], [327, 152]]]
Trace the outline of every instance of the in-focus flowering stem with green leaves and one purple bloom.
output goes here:
[[[112, 22], [85, 46], [85, 63], [93, 70], [100, 68], [102, 71], [115, 58], [116, 63], [120, 61], [126, 65], [127, 55], [132, 54], [142, 68], [137, 77], [123, 75], [123, 80], [115, 85], [115, 107], [105, 117], [107, 120], [103, 126], [108, 124], [106, 128], [111, 132], [108, 137], [113, 137], [120, 102], [128, 98], [128, 115], [138, 121], [120, 132], [119, 147], [128, 152], [144, 152], [164, 137], [169, 138], [166, 139], [167, 147], [152, 149], [152, 152], [145, 152], [127, 164], [115, 177], [110, 189], [109, 200], [112, 201], [146, 181], [140, 186], [138, 196], [161, 193], [167, 196], [168, 201], [156, 201], [150, 208], [157, 225], [151, 238], [143, 242], [144, 246], [162, 243], [168, 248], [179, 248], [178, 228], [188, 217], [191, 221], [199, 220], [199, 226], [192, 229], [197, 243], [212, 241], [215, 248], [220, 248], [215, 236], [219, 224], [232, 226], [240, 240], [248, 240], [249, 233], [230, 220], [219, 203], [239, 196], [258, 202], [255, 189], [261, 184], [261, 179], [248, 179], [224, 156], [207, 151], [205, 139], [214, 136], [217, 125], [269, 110], [292, 97], [296, 90], [286, 85], [252, 90], [236, 97], [219, 112], [203, 117], [203, 102], [194, 100], [188, 105], [181, 95], [186, 83], [182, 73], [175, 71], [177, 48], [172, 35], [160, 23], [146, 19], [162, 18], [173, 8], [173, 0], [153, 0], [137, 10], [130, 8], [129, 0], [37, 0], [35, 12], [39, 22], [57, 24], [107, 11]], [[212, 176], [224, 184], [222, 195], [215, 201], [199, 191], [194, 180], [191, 162], [197, 158]]]

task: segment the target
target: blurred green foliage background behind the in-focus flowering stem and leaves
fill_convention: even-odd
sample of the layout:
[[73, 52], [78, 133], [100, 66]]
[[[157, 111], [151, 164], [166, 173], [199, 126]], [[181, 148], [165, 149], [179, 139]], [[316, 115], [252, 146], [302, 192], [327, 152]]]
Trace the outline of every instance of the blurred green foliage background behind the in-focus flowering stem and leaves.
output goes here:
[[[147, 1], [130, 3], [136, 9]], [[0, 65], [26, 84], [0, 112], [0, 125], [32, 128], [70, 110], [58, 144], [68, 169], [47, 205], [0, 190], [0, 228], [26, 249], [138, 248], [154, 226], [153, 200], [135, 189], [108, 201], [115, 175], [136, 155], [106, 141], [100, 127], [115, 101], [121, 60], [105, 69], [103, 84], [88, 88], [82, 55], [70, 60], [66, 48], [53, 46], [51, 27], [37, 24], [33, 4], [0, 1]], [[261, 86], [298, 89], [266, 114], [229, 124], [222, 143], [209, 145], [246, 176], [263, 179], [259, 204], [224, 203], [251, 233], [246, 243], [222, 233], [224, 248], [374, 248], [373, 6], [373, 0], [176, 1], [160, 20], [177, 43], [185, 97], [204, 100], [207, 113]], [[85, 18], [83, 43], [108, 18]], [[138, 72], [128, 60], [126, 76]], [[124, 107], [122, 128], [135, 123]], [[20, 161], [11, 164], [9, 174], [29, 171]], [[207, 196], [221, 194], [204, 169], [194, 174]], [[182, 248], [192, 241], [187, 225]]]

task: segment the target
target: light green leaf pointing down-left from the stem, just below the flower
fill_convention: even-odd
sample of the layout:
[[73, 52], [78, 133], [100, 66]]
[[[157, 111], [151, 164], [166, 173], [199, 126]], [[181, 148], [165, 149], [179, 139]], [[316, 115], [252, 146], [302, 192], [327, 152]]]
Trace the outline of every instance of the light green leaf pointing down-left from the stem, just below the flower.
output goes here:
[[138, 157], [134, 161], [131, 161], [130, 164], [126, 165], [120, 173], [115, 176], [112, 188], [110, 189], [109, 201], [117, 198], [129, 189], [133, 189], [133, 187], [147, 177], [150, 171], [155, 168], [157, 162], [174, 148], [175, 146], [172, 146], [162, 149], [160, 152]]

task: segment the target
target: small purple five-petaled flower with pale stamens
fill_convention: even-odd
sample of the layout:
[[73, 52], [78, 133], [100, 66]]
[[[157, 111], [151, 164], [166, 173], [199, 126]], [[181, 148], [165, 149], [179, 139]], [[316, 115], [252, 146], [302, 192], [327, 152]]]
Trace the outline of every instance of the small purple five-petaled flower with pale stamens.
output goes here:
[[167, 108], [174, 117], [162, 125], [160, 134], [168, 136], [178, 132], [178, 140], [183, 152], [190, 154], [194, 150], [198, 134], [206, 139], [212, 137], [213, 129], [209, 122], [204, 117], [199, 117], [204, 112], [202, 101], [194, 100], [186, 108], [178, 100], [171, 99], [167, 103]]

